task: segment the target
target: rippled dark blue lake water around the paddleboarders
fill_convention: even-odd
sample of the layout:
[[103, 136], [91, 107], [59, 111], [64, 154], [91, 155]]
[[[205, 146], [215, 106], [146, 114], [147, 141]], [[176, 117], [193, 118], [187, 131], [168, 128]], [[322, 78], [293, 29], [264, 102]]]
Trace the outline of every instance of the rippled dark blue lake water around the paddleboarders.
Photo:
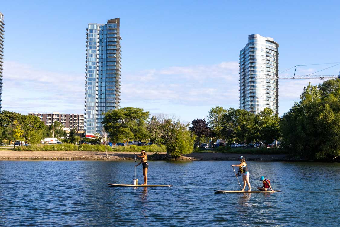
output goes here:
[[237, 161], [150, 161], [148, 183], [174, 186], [147, 189], [106, 184], [132, 184], [134, 161], [0, 161], [0, 226], [339, 225], [339, 163], [247, 163], [252, 190], [282, 192], [215, 194], [239, 190]]

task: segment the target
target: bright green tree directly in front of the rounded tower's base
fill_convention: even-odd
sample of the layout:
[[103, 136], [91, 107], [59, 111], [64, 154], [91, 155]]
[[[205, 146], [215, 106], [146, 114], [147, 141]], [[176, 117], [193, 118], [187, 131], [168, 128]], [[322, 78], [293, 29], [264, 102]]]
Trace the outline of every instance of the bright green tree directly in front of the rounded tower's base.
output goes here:
[[280, 136], [279, 118], [274, 111], [265, 108], [255, 116], [254, 132], [256, 141], [266, 141], [266, 145], [278, 140]]

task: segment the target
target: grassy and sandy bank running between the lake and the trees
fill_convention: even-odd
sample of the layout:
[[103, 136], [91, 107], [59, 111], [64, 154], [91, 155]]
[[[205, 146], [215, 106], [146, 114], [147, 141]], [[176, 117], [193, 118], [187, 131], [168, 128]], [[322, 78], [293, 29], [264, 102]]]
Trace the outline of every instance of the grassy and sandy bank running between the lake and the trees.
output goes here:
[[110, 147], [104, 145], [33, 145], [0, 147], [0, 160], [134, 160], [134, 153], [146, 150], [150, 161], [231, 161], [245, 155], [249, 161], [312, 161], [290, 156], [279, 148], [196, 149], [190, 154], [168, 157], [164, 145]]

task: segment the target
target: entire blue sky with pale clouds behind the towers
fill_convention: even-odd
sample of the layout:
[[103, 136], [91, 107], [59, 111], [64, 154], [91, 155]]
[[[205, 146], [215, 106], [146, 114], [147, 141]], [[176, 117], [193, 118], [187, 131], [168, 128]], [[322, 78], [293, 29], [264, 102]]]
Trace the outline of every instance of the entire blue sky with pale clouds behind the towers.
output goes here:
[[[340, 62], [338, 1], [1, 0], [2, 109], [83, 114], [88, 23], [120, 18], [121, 107], [191, 122], [239, 107], [238, 58], [249, 34], [279, 44], [279, 72]], [[306, 75], [329, 65], [297, 67]], [[339, 75], [340, 65], [315, 75]], [[294, 69], [282, 75], [293, 75]], [[279, 80], [279, 115], [308, 82]]]

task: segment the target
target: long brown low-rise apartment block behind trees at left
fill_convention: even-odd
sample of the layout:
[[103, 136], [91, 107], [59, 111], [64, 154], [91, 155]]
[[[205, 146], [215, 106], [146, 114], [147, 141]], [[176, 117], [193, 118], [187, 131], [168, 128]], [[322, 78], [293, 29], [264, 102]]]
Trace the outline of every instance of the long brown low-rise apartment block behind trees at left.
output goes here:
[[[84, 132], [84, 114], [61, 114], [59, 112], [52, 113], [33, 113], [27, 115], [37, 116], [45, 125], [50, 126], [53, 122], [58, 121], [63, 124], [64, 128], [69, 130], [75, 129], [78, 133]], [[67, 131], [67, 130], [66, 130]]]

